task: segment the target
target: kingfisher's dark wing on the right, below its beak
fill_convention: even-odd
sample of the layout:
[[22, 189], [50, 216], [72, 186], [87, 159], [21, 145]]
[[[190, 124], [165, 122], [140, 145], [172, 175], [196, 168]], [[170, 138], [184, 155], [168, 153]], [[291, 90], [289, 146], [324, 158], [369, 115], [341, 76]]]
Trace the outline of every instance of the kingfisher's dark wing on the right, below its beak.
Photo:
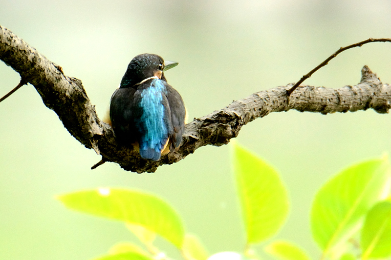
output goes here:
[[185, 131], [186, 109], [182, 97], [179, 95], [178, 91], [176, 91], [169, 84], [166, 85], [166, 88], [167, 100], [171, 110], [171, 121], [174, 128], [173, 134], [171, 136], [172, 143], [170, 150], [174, 151], [174, 149], [178, 148], [182, 142], [182, 135]]

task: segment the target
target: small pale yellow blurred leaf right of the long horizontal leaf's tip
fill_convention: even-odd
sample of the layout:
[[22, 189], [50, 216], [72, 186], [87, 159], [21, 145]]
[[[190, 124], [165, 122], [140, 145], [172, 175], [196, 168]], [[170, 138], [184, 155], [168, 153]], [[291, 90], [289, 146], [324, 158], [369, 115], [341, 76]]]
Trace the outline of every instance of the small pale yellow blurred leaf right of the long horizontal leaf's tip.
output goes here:
[[187, 260], [206, 260], [209, 256], [201, 240], [193, 234], [186, 234], [182, 251]]

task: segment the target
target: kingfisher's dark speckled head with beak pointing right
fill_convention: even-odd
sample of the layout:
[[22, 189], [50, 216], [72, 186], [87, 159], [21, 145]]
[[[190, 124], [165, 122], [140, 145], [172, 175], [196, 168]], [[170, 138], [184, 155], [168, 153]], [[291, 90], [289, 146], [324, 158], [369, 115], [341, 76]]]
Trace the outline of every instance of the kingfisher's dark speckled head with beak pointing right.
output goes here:
[[134, 87], [145, 79], [155, 77], [160, 80], [166, 80], [164, 71], [178, 65], [178, 62], [164, 61], [162, 57], [156, 54], [140, 54], [134, 57], [121, 80], [120, 88]]

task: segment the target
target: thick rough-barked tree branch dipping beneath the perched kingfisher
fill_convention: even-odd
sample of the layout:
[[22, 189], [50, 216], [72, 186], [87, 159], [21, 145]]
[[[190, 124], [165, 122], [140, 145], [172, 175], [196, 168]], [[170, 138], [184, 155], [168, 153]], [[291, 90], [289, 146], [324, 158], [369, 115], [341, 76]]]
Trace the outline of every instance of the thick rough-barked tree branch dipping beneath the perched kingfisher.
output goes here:
[[97, 117], [80, 80], [65, 76], [60, 66], [1, 26], [0, 60], [37, 89], [43, 103], [58, 115], [72, 136], [102, 155], [103, 161], [116, 162], [125, 170], [138, 173], [154, 172], [158, 166], [182, 160], [204, 145], [227, 144], [238, 136], [243, 125], [272, 112], [295, 109], [327, 114], [372, 108], [378, 113], [388, 113], [391, 102], [391, 86], [382, 84], [367, 66], [355, 86], [339, 89], [303, 86], [290, 97], [287, 90], [293, 84], [260, 91], [188, 123], [179, 150], [153, 162], [142, 160], [132, 149], [117, 146], [111, 127]]

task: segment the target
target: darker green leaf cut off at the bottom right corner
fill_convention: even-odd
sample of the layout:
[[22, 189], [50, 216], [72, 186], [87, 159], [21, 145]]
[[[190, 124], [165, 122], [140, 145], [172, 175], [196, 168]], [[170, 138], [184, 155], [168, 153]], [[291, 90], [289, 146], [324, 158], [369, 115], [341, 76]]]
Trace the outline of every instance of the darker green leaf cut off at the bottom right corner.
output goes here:
[[361, 231], [362, 259], [391, 256], [391, 202], [377, 203], [368, 212]]

